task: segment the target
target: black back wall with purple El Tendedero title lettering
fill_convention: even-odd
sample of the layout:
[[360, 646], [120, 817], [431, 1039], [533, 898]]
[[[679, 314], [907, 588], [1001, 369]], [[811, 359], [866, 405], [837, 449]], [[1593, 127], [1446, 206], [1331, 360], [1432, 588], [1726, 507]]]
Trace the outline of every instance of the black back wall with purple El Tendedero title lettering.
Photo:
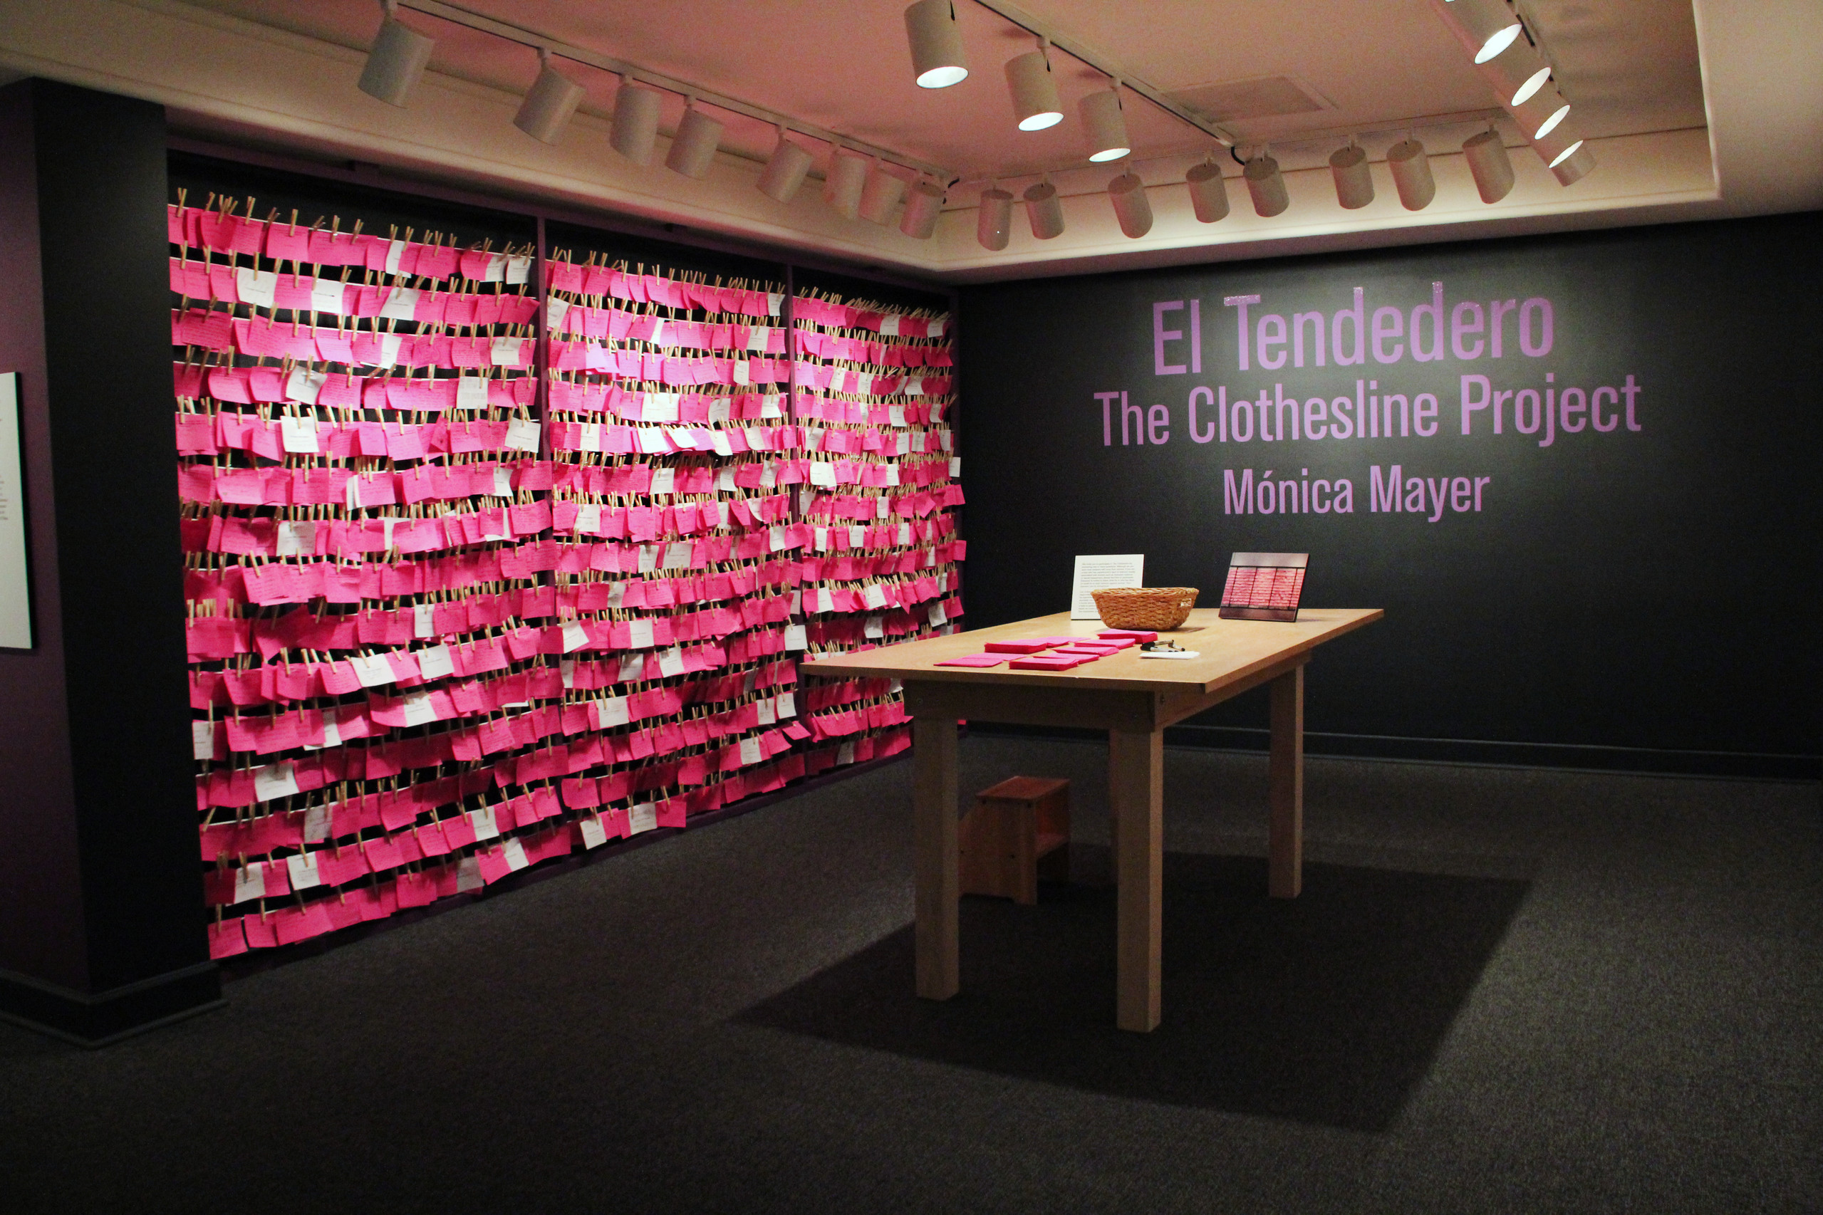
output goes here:
[[968, 623], [1061, 610], [1074, 554], [1145, 552], [1207, 607], [1231, 552], [1309, 550], [1307, 605], [1387, 610], [1311, 667], [1340, 749], [1814, 772], [1818, 220], [970, 288]]

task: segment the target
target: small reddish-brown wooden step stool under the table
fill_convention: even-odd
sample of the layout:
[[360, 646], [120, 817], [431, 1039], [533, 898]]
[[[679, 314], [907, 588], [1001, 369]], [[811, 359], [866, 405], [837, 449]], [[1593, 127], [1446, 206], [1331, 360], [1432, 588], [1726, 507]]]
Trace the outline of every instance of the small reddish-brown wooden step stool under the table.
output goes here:
[[1037, 878], [1070, 880], [1070, 781], [1014, 776], [975, 794], [963, 816], [964, 894], [1037, 902]]

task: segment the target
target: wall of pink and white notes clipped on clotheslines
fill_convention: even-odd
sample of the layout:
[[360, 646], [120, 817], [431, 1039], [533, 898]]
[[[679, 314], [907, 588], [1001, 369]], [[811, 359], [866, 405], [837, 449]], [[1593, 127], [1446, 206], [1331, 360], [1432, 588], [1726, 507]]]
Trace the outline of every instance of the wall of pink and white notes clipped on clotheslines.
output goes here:
[[910, 745], [798, 659], [957, 627], [948, 317], [357, 220], [170, 208], [213, 956]]

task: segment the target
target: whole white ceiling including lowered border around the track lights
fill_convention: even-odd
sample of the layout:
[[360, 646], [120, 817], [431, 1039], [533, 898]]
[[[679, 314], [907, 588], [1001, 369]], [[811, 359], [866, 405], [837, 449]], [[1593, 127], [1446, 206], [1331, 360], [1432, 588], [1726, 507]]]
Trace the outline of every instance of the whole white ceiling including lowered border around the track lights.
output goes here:
[[[842, 220], [809, 188], [789, 206], [755, 191], [775, 133], [742, 115], [716, 115], [727, 120], [724, 155], [704, 182], [620, 160], [605, 144], [616, 78], [582, 64], [563, 71], [589, 89], [583, 113], [556, 148], [534, 144], [510, 126], [538, 69], [534, 53], [412, 11], [416, 2], [403, 0], [405, 20], [430, 33], [438, 53], [408, 109], [352, 84], [379, 22], [374, 0], [11, 0], [0, 5], [0, 71], [149, 97], [179, 129], [210, 138], [370, 160], [952, 281], [1823, 204], [1818, 0], [1520, 0], [1599, 168], [1564, 189], [1502, 124], [1520, 182], [1491, 208], [1455, 148], [1493, 98], [1429, 0], [1019, 0], [1032, 20], [1161, 91], [1289, 77], [1323, 102], [1227, 124], [1243, 144], [1271, 140], [1293, 208], [1274, 220], [1252, 215], [1231, 160], [1234, 215], [1203, 226], [1181, 180], [1214, 142], [1128, 93], [1134, 168], [1158, 213], [1143, 240], [1114, 228], [1101, 193], [1114, 169], [1087, 168], [1074, 113], [1050, 131], [1015, 129], [1001, 64], [1032, 36], [975, 0], [957, 0], [972, 75], [937, 91], [912, 84], [902, 0], [463, 0], [470, 13], [944, 166], [964, 182], [926, 242]], [[1103, 87], [1097, 71], [1063, 51], [1052, 62], [1066, 109]], [[682, 104], [669, 98], [667, 128]], [[1438, 200], [1404, 211], [1378, 164], [1382, 199], [1342, 211], [1329, 151], [1358, 133], [1378, 153], [1407, 128], [1431, 148]], [[804, 142], [820, 166], [828, 149]], [[1041, 169], [1057, 171], [1068, 231], [1037, 242], [1015, 220], [1008, 250], [981, 250], [975, 182], [999, 175], [1017, 188]]]

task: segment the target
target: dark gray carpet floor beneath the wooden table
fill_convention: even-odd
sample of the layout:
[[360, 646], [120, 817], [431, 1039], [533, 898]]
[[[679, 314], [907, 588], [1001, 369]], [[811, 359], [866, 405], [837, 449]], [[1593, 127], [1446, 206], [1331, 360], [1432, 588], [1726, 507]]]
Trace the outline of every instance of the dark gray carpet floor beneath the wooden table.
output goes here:
[[1165, 1024], [1076, 867], [912, 996], [895, 763], [345, 947], [104, 1051], [0, 1026], [24, 1211], [1819, 1211], [1816, 785], [1167, 754]]

